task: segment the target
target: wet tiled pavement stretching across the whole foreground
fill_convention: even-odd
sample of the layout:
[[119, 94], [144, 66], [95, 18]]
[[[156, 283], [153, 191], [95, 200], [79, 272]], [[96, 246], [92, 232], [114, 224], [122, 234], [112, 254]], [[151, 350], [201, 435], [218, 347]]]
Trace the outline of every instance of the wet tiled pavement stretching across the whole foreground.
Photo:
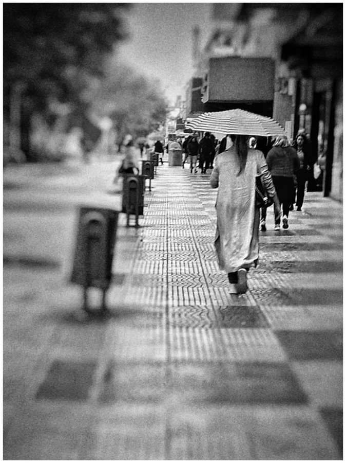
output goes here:
[[[94, 192], [120, 204], [111, 171]], [[121, 219], [103, 318], [62, 277], [75, 204], [5, 195], [4, 459], [342, 458], [342, 206], [307, 193], [279, 232], [269, 209], [230, 295], [208, 182], [158, 167], [140, 228]]]

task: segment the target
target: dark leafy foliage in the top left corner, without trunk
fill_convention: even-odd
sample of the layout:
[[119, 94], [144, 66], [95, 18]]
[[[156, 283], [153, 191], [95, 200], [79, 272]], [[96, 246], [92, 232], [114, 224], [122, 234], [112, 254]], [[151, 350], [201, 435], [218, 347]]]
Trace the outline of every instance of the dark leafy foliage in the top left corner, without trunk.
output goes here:
[[126, 36], [120, 19], [126, 5], [5, 3], [5, 83], [23, 80], [63, 97], [68, 70], [100, 75], [100, 58]]

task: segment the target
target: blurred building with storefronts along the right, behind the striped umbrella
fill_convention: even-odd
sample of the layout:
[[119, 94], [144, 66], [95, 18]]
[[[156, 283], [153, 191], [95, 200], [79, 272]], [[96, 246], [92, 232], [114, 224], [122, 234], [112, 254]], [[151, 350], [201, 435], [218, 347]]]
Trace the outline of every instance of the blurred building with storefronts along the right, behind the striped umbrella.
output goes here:
[[193, 30], [185, 119], [241, 108], [310, 138], [323, 179], [310, 190], [342, 200], [341, 3], [216, 3], [213, 30]]

